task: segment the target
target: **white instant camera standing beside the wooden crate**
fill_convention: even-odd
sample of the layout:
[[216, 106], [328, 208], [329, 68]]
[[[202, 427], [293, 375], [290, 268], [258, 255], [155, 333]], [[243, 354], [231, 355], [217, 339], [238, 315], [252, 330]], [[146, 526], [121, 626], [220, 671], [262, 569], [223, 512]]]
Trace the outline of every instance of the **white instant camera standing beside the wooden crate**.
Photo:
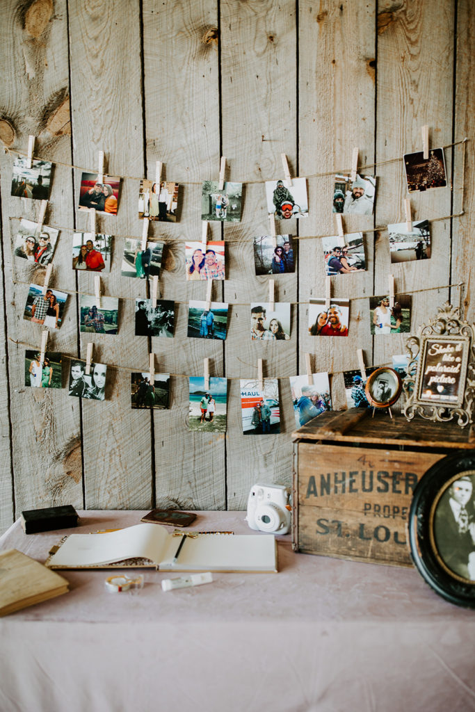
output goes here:
[[246, 520], [251, 529], [287, 534], [291, 528], [291, 492], [283, 485], [254, 485], [249, 492]]

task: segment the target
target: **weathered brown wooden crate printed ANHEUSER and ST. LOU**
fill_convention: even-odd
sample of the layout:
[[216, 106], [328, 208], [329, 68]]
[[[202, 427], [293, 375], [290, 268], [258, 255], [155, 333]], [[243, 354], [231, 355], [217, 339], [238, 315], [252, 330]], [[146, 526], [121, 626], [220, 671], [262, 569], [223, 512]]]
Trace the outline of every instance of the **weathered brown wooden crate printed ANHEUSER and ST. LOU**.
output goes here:
[[293, 549], [410, 566], [406, 523], [425, 471], [475, 431], [454, 423], [391, 419], [353, 408], [326, 412], [293, 433]]

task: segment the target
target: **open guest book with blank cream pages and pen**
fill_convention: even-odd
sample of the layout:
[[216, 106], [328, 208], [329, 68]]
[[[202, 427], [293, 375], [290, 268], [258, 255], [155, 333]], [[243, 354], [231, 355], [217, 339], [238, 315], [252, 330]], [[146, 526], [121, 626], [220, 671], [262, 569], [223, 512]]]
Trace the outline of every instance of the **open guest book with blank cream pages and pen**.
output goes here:
[[170, 534], [160, 524], [71, 534], [50, 552], [51, 569], [156, 567], [160, 571], [277, 572], [273, 534]]

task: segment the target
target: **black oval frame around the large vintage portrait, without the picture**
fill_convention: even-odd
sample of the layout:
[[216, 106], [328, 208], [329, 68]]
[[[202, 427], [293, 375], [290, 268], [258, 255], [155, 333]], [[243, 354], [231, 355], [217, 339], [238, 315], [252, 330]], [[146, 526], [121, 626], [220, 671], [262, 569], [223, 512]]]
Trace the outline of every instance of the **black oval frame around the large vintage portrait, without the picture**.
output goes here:
[[[475, 580], [457, 575], [447, 566], [434, 535], [434, 513], [440, 499], [451, 483], [465, 474], [475, 478], [475, 450], [457, 451], [424, 473], [414, 489], [409, 509], [409, 545], [414, 565], [435, 592], [451, 603], [475, 608]], [[471, 501], [474, 495], [475, 487]]]

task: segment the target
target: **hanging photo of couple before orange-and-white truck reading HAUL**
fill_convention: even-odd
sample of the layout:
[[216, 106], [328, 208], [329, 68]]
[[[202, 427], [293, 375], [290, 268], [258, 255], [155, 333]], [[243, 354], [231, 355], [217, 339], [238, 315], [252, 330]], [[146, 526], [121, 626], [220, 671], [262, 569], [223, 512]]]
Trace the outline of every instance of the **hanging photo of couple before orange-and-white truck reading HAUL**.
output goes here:
[[281, 407], [278, 399], [278, 379], [264, 378], [263, 391], [259, 381], [241, 379], [241, 417], [244, 435], [268, 435], [281, 431]]

